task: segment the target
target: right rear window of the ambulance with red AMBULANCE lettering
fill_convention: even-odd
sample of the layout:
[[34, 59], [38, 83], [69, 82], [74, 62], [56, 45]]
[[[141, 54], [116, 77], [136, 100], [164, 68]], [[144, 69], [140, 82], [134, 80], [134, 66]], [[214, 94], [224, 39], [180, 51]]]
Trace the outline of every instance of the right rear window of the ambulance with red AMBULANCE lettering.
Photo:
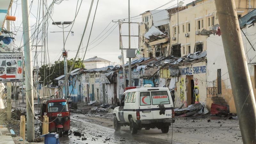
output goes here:
[[167, 91], [154, 91], [151, 92], [151, 96], [153, 105], [170, 104]]

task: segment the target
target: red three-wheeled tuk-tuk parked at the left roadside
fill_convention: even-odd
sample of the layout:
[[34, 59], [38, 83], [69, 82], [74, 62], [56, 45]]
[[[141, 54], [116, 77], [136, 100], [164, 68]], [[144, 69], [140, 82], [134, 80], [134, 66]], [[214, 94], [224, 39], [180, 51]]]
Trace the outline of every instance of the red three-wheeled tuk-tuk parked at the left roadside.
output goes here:
[[[49, 117], [49, 132], [59, 133], [59, 137], [62, 136], [62, 132], [68, 133], [70, 128], [70, 111], [65, 99], [52, 99], [44, 100], [41, 108], [41, 121], [43, 122], [43, 116]], [[40, 132], [42, 133], [42, 123]]]

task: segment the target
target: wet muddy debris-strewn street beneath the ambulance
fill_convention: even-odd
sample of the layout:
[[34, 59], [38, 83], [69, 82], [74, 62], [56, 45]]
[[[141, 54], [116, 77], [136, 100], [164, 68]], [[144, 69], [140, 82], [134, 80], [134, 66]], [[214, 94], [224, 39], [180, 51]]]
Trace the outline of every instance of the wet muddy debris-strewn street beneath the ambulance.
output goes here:
[[92, 106], [86, 106], [72, 113], [71, 131], [80, 131], [81, 136], [69, 132], [69, 135], [60, 138], [61, 144], [242, 143], [238, 120], [210, 115], [175, 117], [175, 123], [170, 126], [166, 134], [158, 129], [145, 130], [143, 128], [137, 134], [132, 135], [129, 126], [121, 127], [120, 132], [115, 132], [111, 112], [91, 112], [91, 108]]

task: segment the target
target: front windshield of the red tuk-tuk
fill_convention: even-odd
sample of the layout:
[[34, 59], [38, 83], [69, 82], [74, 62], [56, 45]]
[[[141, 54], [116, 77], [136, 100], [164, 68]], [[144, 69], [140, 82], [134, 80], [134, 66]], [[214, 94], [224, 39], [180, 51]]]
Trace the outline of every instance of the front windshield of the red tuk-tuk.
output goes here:
[[47, 109], [48, 113], [68, 112], [68, 104], [67, 102], [50, 102]]

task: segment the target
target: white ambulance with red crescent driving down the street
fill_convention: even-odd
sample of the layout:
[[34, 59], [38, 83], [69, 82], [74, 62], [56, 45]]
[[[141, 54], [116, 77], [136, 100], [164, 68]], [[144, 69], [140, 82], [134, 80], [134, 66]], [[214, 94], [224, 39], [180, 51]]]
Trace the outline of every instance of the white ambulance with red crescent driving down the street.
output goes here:
[[114, 128], [130, 126], [132, 134], [141, 128], [161, 129], [168, 133], [169, 126], [174, 123], [174, 110], [170, 91], [166, 87], [127, 87], [114, 109]]

